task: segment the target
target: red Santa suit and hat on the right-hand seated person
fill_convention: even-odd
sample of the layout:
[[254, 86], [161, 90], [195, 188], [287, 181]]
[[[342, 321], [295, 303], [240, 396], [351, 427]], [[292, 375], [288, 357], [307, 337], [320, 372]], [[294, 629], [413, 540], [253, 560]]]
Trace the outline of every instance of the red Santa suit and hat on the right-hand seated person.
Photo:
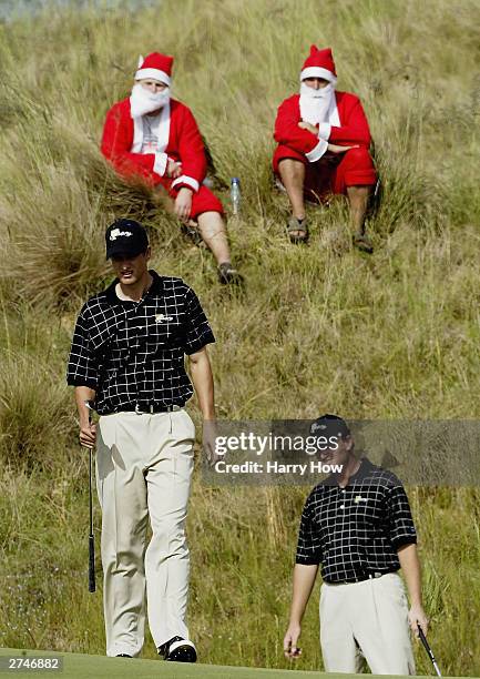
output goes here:
[[[317, 50], [313, 45], [300, 78], [318, 77], [335, 83], [335, 75], [331, 51]], [[300, 95], [294, 94], [280, 104], [275, 121], [274, 136], [278, 143], [273, 160], [275, 173], [278, 174], [278, 163], [283, 159], [303, 162], [306, 165], [305, 193], [310, 200], [320, 200], [328, 193], [346, 193], [347, 186], [376, 183], [377, 174], [368, 152], [370, 130], [358, 97], [334, 92], [325, 120], [317, 124], [317, 135], [299, 128], [302, 120]], [[328, 143], [358, 144], [358, 148], [333, 155], [327, 153]]]

